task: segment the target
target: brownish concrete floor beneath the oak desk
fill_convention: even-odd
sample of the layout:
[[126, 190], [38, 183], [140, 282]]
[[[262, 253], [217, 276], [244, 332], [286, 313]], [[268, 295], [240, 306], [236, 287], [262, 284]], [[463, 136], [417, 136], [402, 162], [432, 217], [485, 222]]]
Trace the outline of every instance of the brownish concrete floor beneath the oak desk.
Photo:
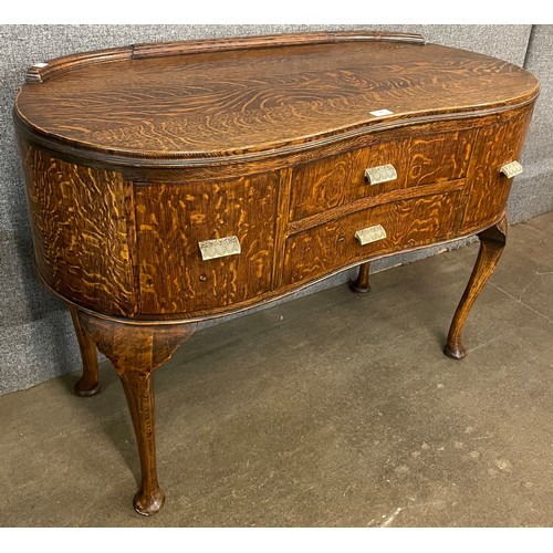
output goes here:
[[154, 518], [123, 390], [0, 398], [3, 526], [553, 525], [553, 212], [510, 229], [441, 354], [478, 246], [197, 333], [156, 373]]

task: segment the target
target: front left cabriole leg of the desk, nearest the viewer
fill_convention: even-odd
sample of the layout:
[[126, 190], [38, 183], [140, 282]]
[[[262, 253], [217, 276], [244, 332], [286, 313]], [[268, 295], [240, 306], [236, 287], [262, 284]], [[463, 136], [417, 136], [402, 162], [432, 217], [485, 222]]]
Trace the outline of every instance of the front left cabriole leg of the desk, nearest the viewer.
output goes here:
[[153, 373], [192, 334], [195, 325], [132, 325], [83, 312], [79, 319], [123, 384], [140, 457], [142, 483], [134, 508], [140, 514], [155, 514], [165, 493], [157, 480]]

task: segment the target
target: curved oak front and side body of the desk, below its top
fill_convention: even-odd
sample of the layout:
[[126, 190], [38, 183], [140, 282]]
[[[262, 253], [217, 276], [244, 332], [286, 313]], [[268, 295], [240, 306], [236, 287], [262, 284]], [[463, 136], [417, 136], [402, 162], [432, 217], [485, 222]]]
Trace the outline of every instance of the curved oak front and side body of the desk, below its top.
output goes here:
[[[340, 171], [336, 179], [331, 173], [321, 185], [305, 166], [331, 164], [326, 156], [313, 164], [312, 153], [305, 164], [283, 156], [270, 168], [264, 161], [242, 165], [243, 176], [227, 177], [231, 164], [202, 179], [174, 170], [167, 176], [161, 168], [157, 178], [152, 169], [143, 176], [135, 170], [129, 180], [119, 171], [60, 159], [60, 154], [20, 136], [38, 269], [63, 299], [111, 316], [197, 320], [243, 310], [364, 258], [430, 246], [494, 225], [511, 186], [499, 169], [517, 158], [531, 113], [532, 105], [524, 105], [461, 119], [463, 132], [458, 133], [451, 132], [452, 122], [392, 129], [376, 138], [369, 133], [377, 152], [387, 145], [392, 152], [389, 158], [372, 158], [374, 163], [398, 159], [396, 145], [406, 133], [415, 148], [405, 149], [396, 180], [375, 186], [366, 182], [361, 164], [355, 179], [346, 180]], [[445, 138], [438, 139], [438, 133]], [[444, 153], [440, 144], [447, 146]], [[425, 161], [432, 156], [449, 168], [449, 179], [440, 166]], [[428, 182], [426, 175], [437, 180]], [[345, 190], [334, 195], [338, 189]], [[290, 213], [298, 212], [295, 200], [307, 198], [310, 190], [319, 198], [336, 198], [333, 207], [320, 210], [316, 201], [304, 201], [305, 216], [294, 219]], [[444, 212], [438, 208], [442, 202]], [[389, 207], [394, 209], [388, 212]], [[410, 209], [418, 215], [409, 216]], [[389, 238], [358, 248], [354, 233], [367, 226], [362, 220], [390, 226]], [[229, 234], [238, 237], [244, 254], [201, 260], [199, 241]], [[306, 253], [322, 259], [319, 269], [295, 267], [301, 248], [312, 243], [315, 249]], [[338, 260], [332, 259], [335, 252]], [[83, 270], [87, 278], [82, 278]]]

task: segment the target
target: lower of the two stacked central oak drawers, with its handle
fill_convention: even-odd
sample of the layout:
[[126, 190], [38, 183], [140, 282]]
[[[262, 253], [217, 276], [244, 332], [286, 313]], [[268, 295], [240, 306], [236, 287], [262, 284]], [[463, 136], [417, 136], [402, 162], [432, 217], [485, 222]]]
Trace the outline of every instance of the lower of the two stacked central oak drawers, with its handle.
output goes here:
[[373, 255], [451, 238], [460, 194], [384, 204], [289, 237], [283, 283], [309, 282]]

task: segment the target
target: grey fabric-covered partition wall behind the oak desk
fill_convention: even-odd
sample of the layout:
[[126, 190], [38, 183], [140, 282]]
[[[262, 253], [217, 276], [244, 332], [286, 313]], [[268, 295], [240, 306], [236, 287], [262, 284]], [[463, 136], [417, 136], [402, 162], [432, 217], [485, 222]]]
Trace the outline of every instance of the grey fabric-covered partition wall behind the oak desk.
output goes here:
[[[420, 32], [429, 42], [494, 55], [534, 72], [543, 92], [523, 156], [525, 171], [517, 178], [510, 202], [511, 221], [524, 221], [553, 209], [551, 25], [0, 25], [0, 275], [3, 283], [0, 288], [0, 394], [80, 368], [67, 311], [40, 288], [32, 271], [31, 234], [11, 122], [13, 98], [27, 66], [74, 52], [135, 42], [321, 29]], [[375, 263], [373, 269], [383, 270], [437, 251], [388, 258]], [[351, 274], [327, 279], [304, 293], [345, 282]]]

